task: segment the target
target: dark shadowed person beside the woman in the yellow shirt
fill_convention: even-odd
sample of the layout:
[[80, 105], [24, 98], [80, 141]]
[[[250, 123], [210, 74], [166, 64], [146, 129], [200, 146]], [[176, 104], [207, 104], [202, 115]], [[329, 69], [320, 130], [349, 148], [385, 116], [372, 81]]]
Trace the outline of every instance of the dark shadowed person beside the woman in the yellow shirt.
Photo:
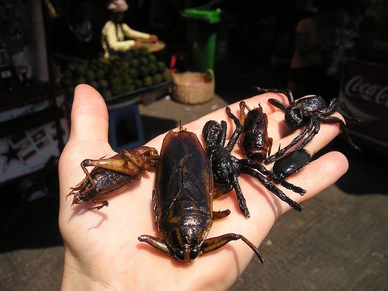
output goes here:
[[91, 16], [91, 0], [72, 0], [65, 14], [53, 21], [50, 46], [58, 65], [102, 57], [100, 29]]

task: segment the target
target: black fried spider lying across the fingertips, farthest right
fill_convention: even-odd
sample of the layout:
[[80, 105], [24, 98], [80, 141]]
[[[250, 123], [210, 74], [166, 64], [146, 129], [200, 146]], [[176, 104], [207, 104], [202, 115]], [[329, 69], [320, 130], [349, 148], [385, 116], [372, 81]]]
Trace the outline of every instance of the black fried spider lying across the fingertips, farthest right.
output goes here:
[[297, 129], [306, 125], [306, 128], [297, 137], [295, 137], [289, 145], [283, 147], [282, 149], [279, 149], [275, 154], [266, 158], [264, 160], [264, 163], [269, 164], [283, 156], [287, 152], [287, 150], [289, 150], [292, 146], [298, 144], [302, 140], [302, 138], [306, 136], [309, 131], [311, 131], [311, 133], [305, 137], [303, 142], [299, 144], [296, 149], [305, 147], [319, 132], [321, 128], [321, 122], [327, 124], [338, 123], [342, 134], [344, 134], [345, 139], [350, 144], [350, 146], [359, 150], [358, 146], [356, 146], [350, 138], [349, 132], [346, 129], [346, 125], [342, 121], [342, 119], [335, 116], [330, 116], [331, 114], [339, 110], [343, 110], [353, 120], [356, 120], [358, 122], [360, 121], [349, 110], [349, 108], [343, 101], [339, 100], [338, 98], [333, 98], [330, 100], [329, 105], [326, 105], [326, 102], [321, 96], [312, 96], [294, 100], [293, 94], [290, 90], [263, 89], [259, 87], [256, 88], [259, 90], [260, 93], [272, 92], [282, 93], [286, 95], [289, 100], [290, 106], [280, 102], [277, 99], [268, 99], [268, 102], [285, 112], [284, 121], [287, 126]]

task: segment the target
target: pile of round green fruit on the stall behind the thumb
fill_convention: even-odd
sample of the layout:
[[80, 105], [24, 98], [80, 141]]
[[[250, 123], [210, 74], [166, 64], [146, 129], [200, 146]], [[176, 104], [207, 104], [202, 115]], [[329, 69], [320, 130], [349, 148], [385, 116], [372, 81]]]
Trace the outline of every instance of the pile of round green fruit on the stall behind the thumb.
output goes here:
[[120, 56], [70, 63], [62, 71], [61, 86], [73, 95], [75, 86], [89, 84], [109, 98], [169, 80], [166, 65], [147, 48], [140, 48]]

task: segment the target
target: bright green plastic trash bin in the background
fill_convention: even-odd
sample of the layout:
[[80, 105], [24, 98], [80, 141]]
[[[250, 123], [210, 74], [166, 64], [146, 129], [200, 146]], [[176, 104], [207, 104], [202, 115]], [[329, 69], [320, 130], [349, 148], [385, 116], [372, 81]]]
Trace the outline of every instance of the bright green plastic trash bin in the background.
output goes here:
[[212, 69], [217, 87], [226, 83], [229, 13], [219, 8], [220, 1], [184, 10], [193, 69]]

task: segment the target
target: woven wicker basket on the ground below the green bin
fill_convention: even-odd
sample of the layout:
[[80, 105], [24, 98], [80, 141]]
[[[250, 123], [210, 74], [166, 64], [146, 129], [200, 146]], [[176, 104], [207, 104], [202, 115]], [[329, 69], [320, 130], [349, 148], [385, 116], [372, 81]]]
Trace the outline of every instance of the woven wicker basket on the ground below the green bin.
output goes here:
[[185, 104], [199, 104], [214, 97], [214, 72], [184, 72], [172, 74], [174, 80], [173, 99]]

